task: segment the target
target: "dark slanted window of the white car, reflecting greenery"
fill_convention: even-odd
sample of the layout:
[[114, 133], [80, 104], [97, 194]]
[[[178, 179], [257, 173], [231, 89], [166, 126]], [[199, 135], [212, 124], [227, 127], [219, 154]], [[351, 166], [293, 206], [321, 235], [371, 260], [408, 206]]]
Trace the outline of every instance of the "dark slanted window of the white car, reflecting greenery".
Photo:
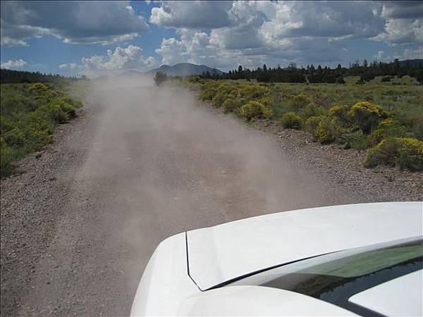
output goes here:
[[423, 240], [317, 256], [264, 271], [231, 285], [260, 285], [299, 292], [366, 316], [378, 315], [348, 302], [354, 294], [423, 269]]

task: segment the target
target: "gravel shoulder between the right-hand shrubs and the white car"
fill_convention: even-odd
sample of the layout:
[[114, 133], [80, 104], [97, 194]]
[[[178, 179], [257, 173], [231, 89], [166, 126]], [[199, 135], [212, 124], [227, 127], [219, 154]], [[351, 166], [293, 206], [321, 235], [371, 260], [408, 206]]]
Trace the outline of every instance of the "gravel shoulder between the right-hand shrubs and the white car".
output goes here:
[[423, 173], [377, 166], [364, 168], [366, 151], [321, 145], [307, 132], [283, 129], [277, 123], [258, 122], [259, 130], [280, 139], [280, 147], [300, 159], [307, 168], [324, 170], [333, 185], [349, 187], [369, 201], [422, 201]]

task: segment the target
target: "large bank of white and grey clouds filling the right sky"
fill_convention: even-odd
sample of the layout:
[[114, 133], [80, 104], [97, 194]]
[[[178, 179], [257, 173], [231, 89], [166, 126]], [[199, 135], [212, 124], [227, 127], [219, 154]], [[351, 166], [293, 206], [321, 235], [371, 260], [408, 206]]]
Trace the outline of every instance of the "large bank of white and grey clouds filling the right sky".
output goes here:
[[417, 1], [161, 1], [150, 22], [174, 27], [180, 36], [162, 39], [156, 50], [162, 63], [224, 68], [262, 61], [346, 62], [345, 44], [352, 39], [421, 42], [422, 6]]

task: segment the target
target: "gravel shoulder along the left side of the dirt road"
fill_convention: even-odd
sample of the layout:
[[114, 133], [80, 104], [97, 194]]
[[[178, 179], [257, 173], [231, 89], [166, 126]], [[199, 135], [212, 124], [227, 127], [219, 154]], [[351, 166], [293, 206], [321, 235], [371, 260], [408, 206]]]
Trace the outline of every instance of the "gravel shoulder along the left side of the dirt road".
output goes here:
[[53, 144], [19, 161], [16, 173], [1, 180], [1, 316], [16, 316], [25, 294], [37, 287], [35, 276], [44, 274], [37, 272], [37, 264], [51, 257], [46, 250], [54, 242], [74, 168], [83, 156], [70, 145], [70, 136], [78, 134], [75, 130], [85, 120], [85, 112], [78, 111], [75, 120], [56, 129]]

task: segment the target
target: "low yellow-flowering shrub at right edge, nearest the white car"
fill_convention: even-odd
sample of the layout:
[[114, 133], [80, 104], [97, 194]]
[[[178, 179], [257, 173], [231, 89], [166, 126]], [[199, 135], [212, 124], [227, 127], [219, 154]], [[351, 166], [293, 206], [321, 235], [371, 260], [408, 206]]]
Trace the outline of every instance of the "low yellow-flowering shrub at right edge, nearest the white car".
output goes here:
[[367, 151], [364, 167], [376, 165], [408, 168], [412, 171], [423, 170], [423, 142], [411, 137], [391, 137], [382, 140], [376, 147]]

